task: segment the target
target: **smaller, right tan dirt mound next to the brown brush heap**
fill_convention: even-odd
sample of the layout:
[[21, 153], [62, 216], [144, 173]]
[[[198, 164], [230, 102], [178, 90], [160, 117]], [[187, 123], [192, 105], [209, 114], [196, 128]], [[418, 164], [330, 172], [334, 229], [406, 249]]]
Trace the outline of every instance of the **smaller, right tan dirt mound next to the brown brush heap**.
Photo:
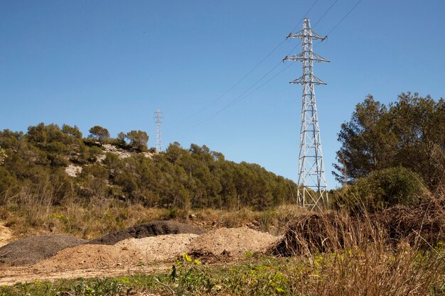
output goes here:
[[221, 228], [203, 234], [192, 241], [188, 253], [195, 256], [240, 258], [245, 256], [247, 251], [252, 253], [265, 251], [276, 241], [276, 236], [247, 227]]

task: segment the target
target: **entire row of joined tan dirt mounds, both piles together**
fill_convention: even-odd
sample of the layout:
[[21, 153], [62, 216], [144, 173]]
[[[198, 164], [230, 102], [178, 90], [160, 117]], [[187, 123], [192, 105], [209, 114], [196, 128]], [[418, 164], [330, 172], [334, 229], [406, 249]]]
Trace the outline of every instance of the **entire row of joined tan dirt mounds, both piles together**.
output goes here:
[[239, 258], [247, 251], [264, 251], [275, 236], [248, 228], [217, 229], [208, 234], [166, 234], [142, 239], [125, 239], [114, 245], [86, 244], [65, 248], [33, 268], [41, 272], [116, 268], [166, 261], [183, 253], [195, 256]]

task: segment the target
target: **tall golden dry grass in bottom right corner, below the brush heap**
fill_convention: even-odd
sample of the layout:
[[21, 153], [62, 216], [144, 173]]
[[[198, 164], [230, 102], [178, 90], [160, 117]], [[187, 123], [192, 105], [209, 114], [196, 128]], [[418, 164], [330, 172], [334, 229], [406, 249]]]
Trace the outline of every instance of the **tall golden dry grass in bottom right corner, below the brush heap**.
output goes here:
[[434, 251], [372, 244], [304, 257], [291, 276], [296, 295], [444, 295], [444, 259]]

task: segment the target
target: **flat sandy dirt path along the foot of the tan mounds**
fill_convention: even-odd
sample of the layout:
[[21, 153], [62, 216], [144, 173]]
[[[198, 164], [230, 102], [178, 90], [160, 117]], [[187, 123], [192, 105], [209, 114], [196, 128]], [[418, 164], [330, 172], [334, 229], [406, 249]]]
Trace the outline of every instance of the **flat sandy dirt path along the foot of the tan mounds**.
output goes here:
[[14, 285], [15, 283], [29, 283], [34, 280], [58, 280], [62, 278], [103, 278], [121, 275], [135, 275], [139, 273], [154, 274], [166, 272], [171, 263], [155, 263], [146, 266], [87, 268], [78, 270], [60, 270], [56, 272], [41, 272], [33, 266], [1, 267], [0, 285]]

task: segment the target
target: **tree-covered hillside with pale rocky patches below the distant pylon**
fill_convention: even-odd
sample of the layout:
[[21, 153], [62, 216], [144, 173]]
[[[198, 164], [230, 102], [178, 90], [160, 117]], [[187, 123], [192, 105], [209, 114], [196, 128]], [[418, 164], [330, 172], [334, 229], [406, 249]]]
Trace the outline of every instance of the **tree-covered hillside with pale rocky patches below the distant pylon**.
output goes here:
[[225, 160], [206, 146], [173, 143], [158, 153], [147, 149], [146, 133], [146, 139], [131, 137], [144, 132], [108, 138], [106, 129], [92, 130], [88, 138], [76, 126], [55, 124], [30, 126], [27, 133], [1, 131], [7, 157], [0, 166], [0, 204], [99, 198], [168, 209], [267, 209], [290, 202], [296, 192], [291, 180]]

